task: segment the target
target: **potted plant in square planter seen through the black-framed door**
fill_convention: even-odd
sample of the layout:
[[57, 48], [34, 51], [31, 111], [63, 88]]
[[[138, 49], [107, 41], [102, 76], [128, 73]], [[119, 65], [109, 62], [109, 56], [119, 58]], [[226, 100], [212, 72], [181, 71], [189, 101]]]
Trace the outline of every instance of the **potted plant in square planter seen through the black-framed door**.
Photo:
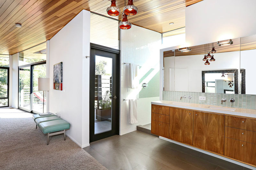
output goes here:
[[99, 107], [96, 110], [98, 121], [105, 121], [111, 118], [111, 100], [109, 97], [109, 91], [107, 90], [102, 100], [99, 100]]

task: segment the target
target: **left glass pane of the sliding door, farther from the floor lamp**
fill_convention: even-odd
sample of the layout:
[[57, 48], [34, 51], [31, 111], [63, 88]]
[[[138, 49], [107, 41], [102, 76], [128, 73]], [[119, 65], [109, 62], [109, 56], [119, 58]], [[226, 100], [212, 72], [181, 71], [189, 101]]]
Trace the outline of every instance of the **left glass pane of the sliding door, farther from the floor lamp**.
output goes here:
[[30, 111], [30, 66], [19, 68], [19, 107]]

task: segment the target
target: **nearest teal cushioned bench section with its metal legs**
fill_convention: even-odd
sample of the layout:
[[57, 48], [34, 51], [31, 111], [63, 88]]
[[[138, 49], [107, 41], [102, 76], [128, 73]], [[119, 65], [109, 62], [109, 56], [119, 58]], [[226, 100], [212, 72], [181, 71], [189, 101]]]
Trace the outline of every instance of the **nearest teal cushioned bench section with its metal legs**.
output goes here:
[[[57, 116], [56, 116], [57, 117]], [[64, 140], [66, 140], [66, 130], [70, 128], [70, 124], [63, 119], [49, 120], [38, 123], [38, 127], [47, 133], [47, 145], [49, 144], [49, 137], [64, 133]]]

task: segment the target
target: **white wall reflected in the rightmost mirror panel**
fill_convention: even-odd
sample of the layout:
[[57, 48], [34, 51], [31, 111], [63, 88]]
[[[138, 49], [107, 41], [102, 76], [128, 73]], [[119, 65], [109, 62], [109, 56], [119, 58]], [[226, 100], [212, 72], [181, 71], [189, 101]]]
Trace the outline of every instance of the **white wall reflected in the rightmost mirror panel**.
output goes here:
[[246, 94], [256, 94], [255, 56], [256, 49], [241, 51], [241, 69], [245, 69]]

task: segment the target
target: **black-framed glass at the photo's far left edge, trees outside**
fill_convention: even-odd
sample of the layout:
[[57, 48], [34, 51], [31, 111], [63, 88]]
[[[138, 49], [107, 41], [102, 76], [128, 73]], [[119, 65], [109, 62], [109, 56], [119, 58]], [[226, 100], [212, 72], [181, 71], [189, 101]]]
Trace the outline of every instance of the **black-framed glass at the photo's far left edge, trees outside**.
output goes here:
[[9, 106], [9, 67], [0, 67], [0, 107]]

